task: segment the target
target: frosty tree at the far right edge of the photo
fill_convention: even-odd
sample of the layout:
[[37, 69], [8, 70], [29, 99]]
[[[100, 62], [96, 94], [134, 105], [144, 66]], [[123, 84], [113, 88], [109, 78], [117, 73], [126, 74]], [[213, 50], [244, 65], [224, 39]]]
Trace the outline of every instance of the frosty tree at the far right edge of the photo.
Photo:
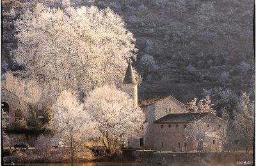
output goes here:
[[242, 93], [239, 102], [239, 111], [234, 117], [234, 132], [236, 139], [246, 149], [246, 152], [253, 148], [254, 136], [254, 110], [255, 103], [250, 100], [249, 94]]

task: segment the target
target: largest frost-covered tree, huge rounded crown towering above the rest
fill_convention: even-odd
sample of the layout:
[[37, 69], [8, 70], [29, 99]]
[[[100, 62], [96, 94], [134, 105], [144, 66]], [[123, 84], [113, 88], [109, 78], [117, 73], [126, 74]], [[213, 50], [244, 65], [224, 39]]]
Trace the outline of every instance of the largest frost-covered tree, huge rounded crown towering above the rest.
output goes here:
[[87, 94], [97, 86], [119, 84], [127, 60], [136, 59], [133, 34], [110, 8], [36, 4], [15, 26], [15, 62], [26, 66], [25, 75], [49, 85], [56, 97], [63, 90]]

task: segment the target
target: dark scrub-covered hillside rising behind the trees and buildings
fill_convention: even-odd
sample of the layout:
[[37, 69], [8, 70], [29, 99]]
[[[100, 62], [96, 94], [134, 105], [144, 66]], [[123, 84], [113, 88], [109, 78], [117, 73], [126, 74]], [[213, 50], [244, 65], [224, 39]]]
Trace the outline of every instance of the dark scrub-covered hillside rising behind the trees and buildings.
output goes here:
[[[42, 1], [43, 2], [43, 1]], [[60, 1], [44, 1], [61, 6]], [[254, 92], [253, 1], [70, 0], [72, 6], [109, 6], [136, 36], [134, 68], [143, 77], [139, 96], [172, 94], [182, 102], [224, 87]], [[2, 71], [17, 70], [13, 22], [33, 1], [3, 1]]]

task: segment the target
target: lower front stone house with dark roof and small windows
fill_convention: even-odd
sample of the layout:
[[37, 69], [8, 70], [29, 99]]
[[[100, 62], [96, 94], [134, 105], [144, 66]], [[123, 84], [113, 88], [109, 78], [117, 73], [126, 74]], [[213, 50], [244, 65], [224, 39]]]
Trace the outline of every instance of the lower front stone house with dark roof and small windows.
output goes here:
[[154, 149], [220, 152], [227, 122], [211, 112], [168, 114], [154, 122]]

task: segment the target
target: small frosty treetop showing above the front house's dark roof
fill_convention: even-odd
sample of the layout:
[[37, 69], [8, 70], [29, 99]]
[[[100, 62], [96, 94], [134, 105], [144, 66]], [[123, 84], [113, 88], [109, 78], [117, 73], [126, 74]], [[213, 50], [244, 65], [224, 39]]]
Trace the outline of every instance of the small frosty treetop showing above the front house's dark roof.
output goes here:
[[207, 95], [197, 102], [197, 98], [194, 98], [191, 102], [187, 103], [187, 112], [211, 112], [215, 114], [215, 110], [212, 108], [211, 98]]

